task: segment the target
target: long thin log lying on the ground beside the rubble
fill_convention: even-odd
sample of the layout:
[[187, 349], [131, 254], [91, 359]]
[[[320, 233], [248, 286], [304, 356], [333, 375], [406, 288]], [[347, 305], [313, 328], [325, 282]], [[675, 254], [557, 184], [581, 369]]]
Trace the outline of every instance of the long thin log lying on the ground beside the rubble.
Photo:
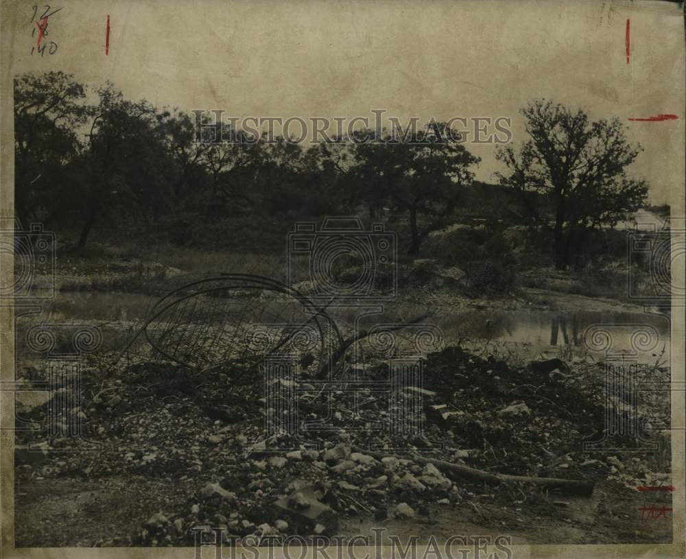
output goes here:
[[[361, 448], [353, 448], [355, 452], [364, 453], [375, 457], [377, 460], [386, 457], [394, 457], [401, 459], [401, 456], [386, 454], [377, 451], [368, 451]], [[433, 464], [439, 470], [444, 472], [451, 472], [465, 479], [472, 481], [482, 481], [486, 484], [504, 484], [512, 481], [525, 484], [534, 484], [549, 490], [558, 490], [568, 493], [570, 495], [582, 495], [590, 497], [593, 494], [593, 481], [580, 481], [578, 479], [560, 479], [557, 477], [531, 477], [528, 475], [510, 475], [501, 473], [490, 473], [477, 468], [470, 468], [469, 466], [462, 466], [460, 464], [453, 464], [445, 460], [438, 460], [436, 458], [425, 458], [421, 456], [413, 456], [412, 460], [417, 464]]]

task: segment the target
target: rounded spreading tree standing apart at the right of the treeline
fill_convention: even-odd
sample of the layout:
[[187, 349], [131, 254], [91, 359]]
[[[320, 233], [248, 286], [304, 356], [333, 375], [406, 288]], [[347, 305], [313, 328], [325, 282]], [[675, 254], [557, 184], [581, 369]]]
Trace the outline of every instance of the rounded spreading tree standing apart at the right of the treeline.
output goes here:
[[[580, 265], [589, 230], [613, 227], [646, 202], [646, 182], [626, 176], [641, 147], [628, 143], [617, 118], [591, 122], [582, 110], [545, 100], [521, 112], [530, 139], [519, 154], [511, 146], [497, 152], [510, 171], [500, 182], [521, 193], [530, 218], [552, 233], [555, 267]], [[545, 196], [549, 211], [532, 192]]]

